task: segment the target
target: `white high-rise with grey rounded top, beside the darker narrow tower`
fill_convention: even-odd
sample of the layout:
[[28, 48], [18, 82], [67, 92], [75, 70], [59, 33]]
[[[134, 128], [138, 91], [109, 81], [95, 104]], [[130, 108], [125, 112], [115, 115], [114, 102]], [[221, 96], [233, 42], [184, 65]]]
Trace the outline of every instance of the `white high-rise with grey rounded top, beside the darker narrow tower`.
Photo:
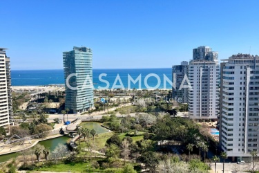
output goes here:
[[189, 63], [189, 118], [217, 119], [219, 113], [219, 77], [218, 52], [212, 52], [209, 46], [193, 49], [193, 60]]

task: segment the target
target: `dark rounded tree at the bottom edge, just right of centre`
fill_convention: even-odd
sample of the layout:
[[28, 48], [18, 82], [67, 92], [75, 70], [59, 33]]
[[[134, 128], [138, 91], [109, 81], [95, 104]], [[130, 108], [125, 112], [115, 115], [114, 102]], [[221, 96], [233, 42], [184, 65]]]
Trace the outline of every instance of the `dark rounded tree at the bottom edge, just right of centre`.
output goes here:
[[148, 151], [142, 154], [140, 158], [138, 158], [142, 163], [145, 164], [146, 169], [150, 169], [151, 172], [155, 172], [155, 168], [159, 164], [159, 159], [155, 155], [154, 152]]

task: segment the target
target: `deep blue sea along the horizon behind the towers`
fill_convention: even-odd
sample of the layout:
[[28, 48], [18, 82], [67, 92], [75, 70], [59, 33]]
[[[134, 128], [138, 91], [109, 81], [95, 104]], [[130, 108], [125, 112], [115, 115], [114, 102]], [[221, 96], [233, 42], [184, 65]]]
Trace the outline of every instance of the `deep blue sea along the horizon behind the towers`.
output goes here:
[[[11, 79], [12, 86], [65, 84], [63, 70], [12, 70]], [[171, 81], [171, 68], [93, 69], [95, 89], [171, 89]]]

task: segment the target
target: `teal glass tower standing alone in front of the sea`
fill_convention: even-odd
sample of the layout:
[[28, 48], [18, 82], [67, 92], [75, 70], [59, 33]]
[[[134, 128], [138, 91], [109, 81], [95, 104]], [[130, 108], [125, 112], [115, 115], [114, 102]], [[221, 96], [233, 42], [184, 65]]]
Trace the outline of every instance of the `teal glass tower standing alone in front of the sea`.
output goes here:
[[66, 109], [79, 113], [93, 107], [93, 53], [90, 48], [75, 47], [63, 53]]

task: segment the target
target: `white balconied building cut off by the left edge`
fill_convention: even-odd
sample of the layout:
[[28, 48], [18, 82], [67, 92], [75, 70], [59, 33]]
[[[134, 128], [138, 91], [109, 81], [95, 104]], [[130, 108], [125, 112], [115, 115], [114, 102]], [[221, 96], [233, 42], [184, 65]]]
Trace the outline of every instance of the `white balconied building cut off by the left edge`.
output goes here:
[[10, 58], [0, 48], [0, 127], [13, 125]]

